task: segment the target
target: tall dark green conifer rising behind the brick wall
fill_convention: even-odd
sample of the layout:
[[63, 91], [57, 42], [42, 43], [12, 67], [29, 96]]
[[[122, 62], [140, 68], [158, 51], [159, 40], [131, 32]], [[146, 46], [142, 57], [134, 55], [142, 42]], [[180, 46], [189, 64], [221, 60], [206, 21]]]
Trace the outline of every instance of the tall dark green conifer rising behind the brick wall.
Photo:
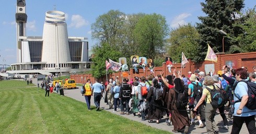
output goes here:
[[[201, 3], [202, 10], [206, 16], [198, 17], [202, 23], [196, 23], [196, 28], [200, 33], [200, 45], [201, 48], [201, 60], [207, 52], [207, 44], [209, 44], [215, 52], [222, 52], [223, 35], [219, 30], [223, 30], [228, 35], [238, 35], [238, 32], [234, 30], [232, 24], [234, 24], [236, 15], [244, 7], [244, 0], [205, 0], [205, 3]], [[232, 40], [225, 39], [224, 51], [228, 51], [230, 46], [235, 44]]]

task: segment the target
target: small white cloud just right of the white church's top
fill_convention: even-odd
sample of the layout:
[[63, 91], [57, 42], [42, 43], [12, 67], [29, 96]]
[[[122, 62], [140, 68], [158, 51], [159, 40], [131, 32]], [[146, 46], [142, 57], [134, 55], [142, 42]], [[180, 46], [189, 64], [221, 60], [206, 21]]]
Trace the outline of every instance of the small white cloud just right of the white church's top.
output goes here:
[[81, 28], [84, 25], [88, 25], [89, 22], [80, 15], [72, 15], [71, 24], [69, 28], [75, 27], [76, 29]]

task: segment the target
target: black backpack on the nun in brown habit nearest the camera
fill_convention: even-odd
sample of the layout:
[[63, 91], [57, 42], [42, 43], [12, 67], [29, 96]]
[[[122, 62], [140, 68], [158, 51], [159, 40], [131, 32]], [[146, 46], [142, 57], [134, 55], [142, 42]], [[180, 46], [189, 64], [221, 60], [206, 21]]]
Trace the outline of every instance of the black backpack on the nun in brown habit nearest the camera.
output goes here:
[[188, 96], [185, 95], [185, 91], [178, 92], [175, 88], [172, 89], [176, 92], [176, 100], [174, 101], [174, 103], [176, 104], [177, 110], [185, 109], [189, 103]]

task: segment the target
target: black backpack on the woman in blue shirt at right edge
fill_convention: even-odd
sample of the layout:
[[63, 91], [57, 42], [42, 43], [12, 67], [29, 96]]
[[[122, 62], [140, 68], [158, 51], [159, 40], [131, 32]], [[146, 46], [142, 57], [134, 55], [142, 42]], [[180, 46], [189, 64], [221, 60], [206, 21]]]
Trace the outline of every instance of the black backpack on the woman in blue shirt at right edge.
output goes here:
[[[255, 98], [255, 95], [256, 95], [256, 84], [253, 83], [253, 82], [247, 82], [245, 80], [241, 80], [239, 82], [245, 82], [247, 84], [247, 87], [248, 87], [248, 101], [246, 103], [246, 107], [250, 110], [255, 110], [256, 109], [256, 98]], [[239, 83], [238, 82], [238, 83]], [[236, 95], [236, 93], [234, 93], [234, 96], [239, 99], [238, 101], [236, 101], [235, 103], [237, 102], [241, 102], [241, 99], [238, 98], [238, 96]]]

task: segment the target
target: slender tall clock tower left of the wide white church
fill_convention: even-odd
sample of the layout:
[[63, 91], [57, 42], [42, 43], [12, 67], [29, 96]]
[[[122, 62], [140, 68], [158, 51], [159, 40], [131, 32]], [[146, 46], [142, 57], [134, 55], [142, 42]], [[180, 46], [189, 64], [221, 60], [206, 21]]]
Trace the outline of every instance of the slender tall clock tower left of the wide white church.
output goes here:
[[22, 62], [22, 46], [21, 41], [23, 41], [24, 36], [26, 36], [26, 23], [27, 23], [27, 14], [26, 14], [26, 2], [25, 0], [17, 0], [17, 9], [16, 9], [16, 23], [17, 23], [17, 63]]

